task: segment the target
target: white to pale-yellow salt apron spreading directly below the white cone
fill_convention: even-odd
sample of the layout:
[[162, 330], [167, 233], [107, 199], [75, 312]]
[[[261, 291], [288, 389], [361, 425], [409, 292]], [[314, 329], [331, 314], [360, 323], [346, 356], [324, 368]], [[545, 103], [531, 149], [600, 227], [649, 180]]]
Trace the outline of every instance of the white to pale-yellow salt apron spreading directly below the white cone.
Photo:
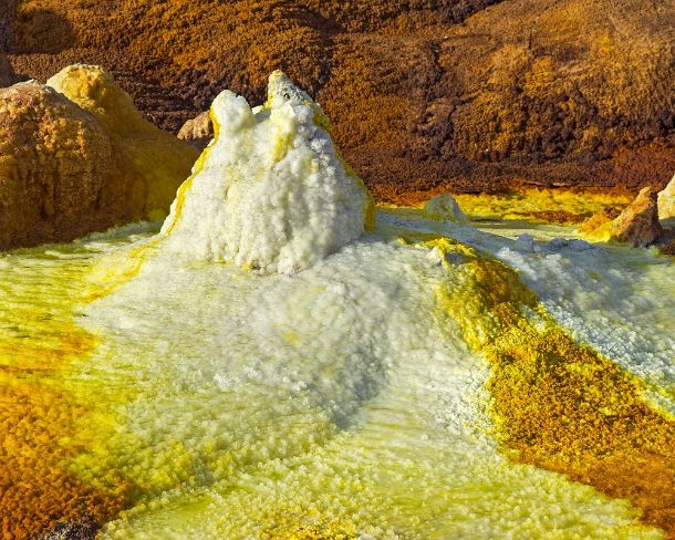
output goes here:
[[105, 444], [74, 467], [142, 492], [105, 536], [266, 538], [308, 515], [362, 538], [650, 533], [498, 449], [489, 366], [435, 303], [451, 276], [395, 239], [383, 224], [292, 277], [159, 245], [86, 309], [102, 345], [70, 384]]

